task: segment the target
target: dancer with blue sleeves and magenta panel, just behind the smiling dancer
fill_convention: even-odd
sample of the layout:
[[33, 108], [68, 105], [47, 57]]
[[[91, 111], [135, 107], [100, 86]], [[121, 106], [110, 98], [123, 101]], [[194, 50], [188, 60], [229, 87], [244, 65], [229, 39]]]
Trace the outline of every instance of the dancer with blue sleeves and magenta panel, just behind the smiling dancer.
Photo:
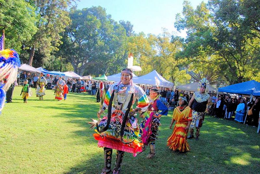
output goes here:
[[140, 134], [142, 134], [142, 143], [144, 143], [143, 150], [148, 144], [150, 147], [147, 158], [152, 158], [155, 155], [155, 140], [158, 136], [160, 117], [168, 114], [168, 108], [159, 100], [159, 92], [157, 88], [150, 89], [148, 114], [146, 112], [141, 115], [141, 117], [145, 117], [145, 120], [140, 124], [142, 131]]

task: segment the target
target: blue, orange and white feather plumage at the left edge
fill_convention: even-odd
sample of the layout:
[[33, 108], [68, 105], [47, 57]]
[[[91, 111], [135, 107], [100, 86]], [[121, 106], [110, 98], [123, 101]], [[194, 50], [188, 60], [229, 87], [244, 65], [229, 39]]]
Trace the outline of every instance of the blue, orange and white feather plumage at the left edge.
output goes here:
[[19, 55], [15, 50], [5, 49], [0, 51], [0, 80], [4, 80], [4, 84], [0, 85], [0, 112], [4, 106], [5, 92], [16, 80], [20, 65]]

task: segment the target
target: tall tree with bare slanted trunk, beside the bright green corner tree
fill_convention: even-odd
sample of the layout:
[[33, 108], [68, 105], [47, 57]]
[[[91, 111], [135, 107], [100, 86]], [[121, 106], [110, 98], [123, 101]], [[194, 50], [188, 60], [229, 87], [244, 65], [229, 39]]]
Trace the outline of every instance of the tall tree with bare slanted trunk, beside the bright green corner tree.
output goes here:
[[73, 0], [30, 0], [31, 5], [36, 8], [38, 28], [33, 38], [24, 43], [24, 50], [29, 52], [28, 64], [33, 64], [35, 51], [42, 58], [48, 58], [52, 51], [57, 50], [62, 44], [60, 34], [71, 22], [68, 7]]

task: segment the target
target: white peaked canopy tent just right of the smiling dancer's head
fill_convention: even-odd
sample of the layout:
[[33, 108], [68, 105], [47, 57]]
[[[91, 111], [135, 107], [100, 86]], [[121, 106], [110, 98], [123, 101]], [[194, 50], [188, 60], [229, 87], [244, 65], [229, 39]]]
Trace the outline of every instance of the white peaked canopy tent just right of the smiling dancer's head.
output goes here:
[[150, 72], [144, 76], [138, 77], [134, 81], [134, 83], [156, 86], [157, 85], [156, 79], [158, 79], [158, 85], [160, 87], [167, 87], [167, 88], [173, 87], [173, 83], [167, 81], [156, 70], [153, 70], [152, 72]]

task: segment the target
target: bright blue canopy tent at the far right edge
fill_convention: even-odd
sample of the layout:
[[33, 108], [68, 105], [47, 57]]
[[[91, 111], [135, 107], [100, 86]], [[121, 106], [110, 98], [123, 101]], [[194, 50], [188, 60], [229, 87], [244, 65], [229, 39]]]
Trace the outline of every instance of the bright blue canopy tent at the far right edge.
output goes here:
[[[251, 80], [251, 81], [237, 83], [237, 84], [219, 88], [218, 92], [250, 95], [250, 102], [251, 102], [253, 95], [260, 96], [260, 83], [255, 80]], [[246, 121], [248, 109], [246, 112], [245, 121]], [[245, 124], [245, 121], [244, 121], [244, 124]]]

